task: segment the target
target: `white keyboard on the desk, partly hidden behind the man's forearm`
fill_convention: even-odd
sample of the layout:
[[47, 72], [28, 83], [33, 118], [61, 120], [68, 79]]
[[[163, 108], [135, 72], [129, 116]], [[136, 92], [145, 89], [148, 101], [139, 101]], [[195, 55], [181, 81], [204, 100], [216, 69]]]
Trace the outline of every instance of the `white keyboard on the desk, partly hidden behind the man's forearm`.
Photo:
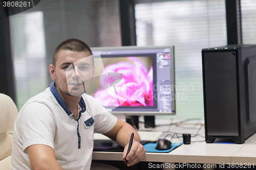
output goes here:
[[[138, 131], [141, 141], [157, 141], [163, 134], [163, 132], [154, 131]], [[101, 133], [94, 133], [94, 140], [111, 140], [109, 137]]]

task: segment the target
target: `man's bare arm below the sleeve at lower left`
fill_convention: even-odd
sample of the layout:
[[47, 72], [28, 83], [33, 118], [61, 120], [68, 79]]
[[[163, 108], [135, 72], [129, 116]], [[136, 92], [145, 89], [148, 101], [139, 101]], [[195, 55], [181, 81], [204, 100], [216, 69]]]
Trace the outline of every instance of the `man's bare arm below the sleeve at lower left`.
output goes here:
[[29, 161], [32, 169], [62, 169], [55, 159], [54, 150], [45, 144], [28, 147]]

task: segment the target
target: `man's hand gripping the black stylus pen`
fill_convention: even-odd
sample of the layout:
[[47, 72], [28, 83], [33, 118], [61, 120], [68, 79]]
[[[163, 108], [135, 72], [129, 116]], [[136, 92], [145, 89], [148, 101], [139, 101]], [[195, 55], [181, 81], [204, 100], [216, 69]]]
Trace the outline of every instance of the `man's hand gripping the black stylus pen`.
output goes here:
[[128, 161], [126, 164], [127, 166], [132, 166], [145, 158], [146, 150], [143, 147], [143, 145], [140, 144], [139, 142], [137, 141], [133, 142], [132, 148], [129, 154], [126, 156], [128, 147], [129, 147], [129, 143], [125, 146], [123, 150], [123, 160], [125, 160], [126, 158], [126, 160]]

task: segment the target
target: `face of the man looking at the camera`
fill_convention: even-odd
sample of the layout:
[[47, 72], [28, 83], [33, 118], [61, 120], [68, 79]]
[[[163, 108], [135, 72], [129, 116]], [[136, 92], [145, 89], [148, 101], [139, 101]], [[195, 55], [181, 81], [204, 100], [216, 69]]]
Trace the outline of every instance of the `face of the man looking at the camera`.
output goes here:
[[89, 52], [61, 50], [55, 66], [55, 86], [63, 94], [81, 96], [90, 88], [94, 72]]

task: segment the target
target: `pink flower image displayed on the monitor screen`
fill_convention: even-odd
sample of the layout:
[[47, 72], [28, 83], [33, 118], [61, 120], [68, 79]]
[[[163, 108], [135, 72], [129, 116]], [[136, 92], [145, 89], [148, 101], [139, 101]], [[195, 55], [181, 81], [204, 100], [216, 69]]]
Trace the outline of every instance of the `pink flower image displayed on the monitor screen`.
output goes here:
[[[120, 81], [119, 73], [123, 76], [125, 84], [116, 84], [115, 89], [118, 94], [121, 106], [153, 106], [153, 67], [147, 71], [145, 65], [135, 57], [128, 57], [133, 61], [134, 65], [129, 62], [118, 62], [105, 67], [107, 77], [100, 77], [100, 86], [94, 95], [94, 98], [102, 106], [119, 106], [117, 95], [112, 88], [108, 88], [109, 84], [115, 85]], [[103, 74], [103, 72], [102, 72]], [[112, 76], [113, 75], [113, 76]], [[106, 80], [108, 79], [108, 80]], [[106, 83], [109, 82], [109, 83]], [[103, 89], [104, 92], [102, 92]], [[126, 93], [126, 94], [125, 94]]]

